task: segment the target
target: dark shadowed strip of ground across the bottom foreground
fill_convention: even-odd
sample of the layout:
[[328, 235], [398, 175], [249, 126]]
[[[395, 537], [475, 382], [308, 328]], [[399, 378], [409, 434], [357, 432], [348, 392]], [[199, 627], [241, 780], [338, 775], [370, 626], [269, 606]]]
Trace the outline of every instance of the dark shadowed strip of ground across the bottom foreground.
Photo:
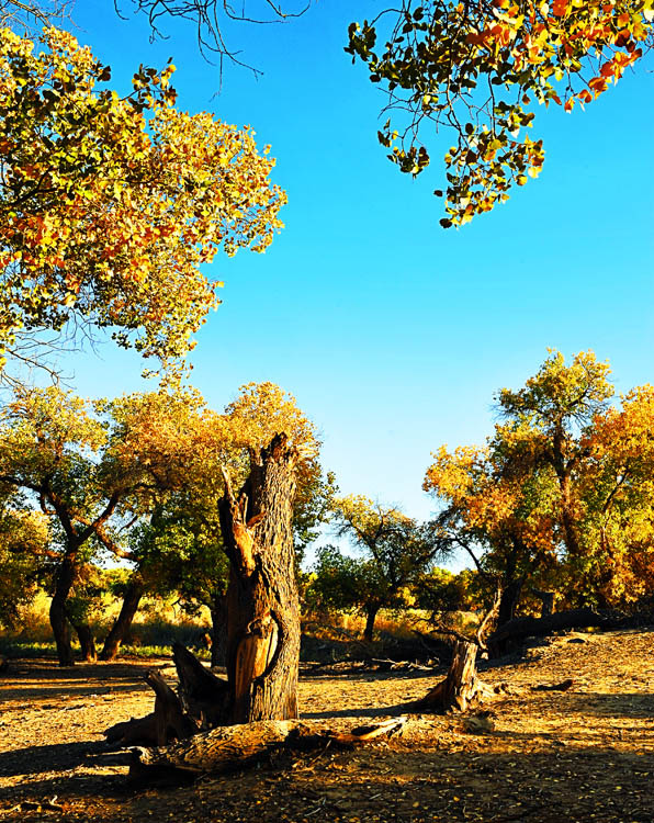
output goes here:
[[498, 742], [503, 743], [494, 735], [475, 737], [466, 751], [402, 740], [391, 748], [382, 744], [354, 752], [326, 749], [317, 756], [281, 757], [168, 789], [135, 785], [115, 774], [61, 775], [15, 787], [11, 802], [57, 793], [69, 809], [57, 820], [100, 814], [106, 823], [149, 818], [214, 823], [353, 819], [361, 823], [651, 823], [654, 819], [652, 754], [553, 746], [499, 752]]

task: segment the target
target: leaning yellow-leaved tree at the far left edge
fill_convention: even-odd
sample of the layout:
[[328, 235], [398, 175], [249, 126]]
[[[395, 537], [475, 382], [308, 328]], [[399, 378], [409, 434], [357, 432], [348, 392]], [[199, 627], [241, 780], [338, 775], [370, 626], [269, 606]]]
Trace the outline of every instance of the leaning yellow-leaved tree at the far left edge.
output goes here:
[[176, 438], [174, 450], [157, 453], [148, 435], [165, 412], [170, 433], [180, 418], [192, 421], [192, 409], [189, 395], [167, 392], [91, 406], [56, 386], [19, 386], [2, 409], [0, 482], [22, 492], [49, 520], [49, 616], [61, 665], [74, 662], [70, 624], [87, 656], [94, 656], [83, 609], [74, 609], [69, 600], [88, 563], [101, 551], [133, 559], [132, 528], [184, 482], [188, 439]]

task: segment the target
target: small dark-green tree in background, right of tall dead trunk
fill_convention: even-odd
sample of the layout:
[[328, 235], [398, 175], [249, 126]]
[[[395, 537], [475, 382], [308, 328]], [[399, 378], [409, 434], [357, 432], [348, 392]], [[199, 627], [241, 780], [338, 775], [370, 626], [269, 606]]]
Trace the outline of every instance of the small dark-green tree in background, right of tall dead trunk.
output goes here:
[[336, 533], [350, 538], [362, 556], [345, 556], [338, 548], [318, 552], [312, 588], [334, 608], [360, 608], [363, 636], [372, 641], [382, 608], [406, 605], [408, 589], [429, 567], [442, 544], [429, 525], [392, 507], [350, 495], [334, 501]]

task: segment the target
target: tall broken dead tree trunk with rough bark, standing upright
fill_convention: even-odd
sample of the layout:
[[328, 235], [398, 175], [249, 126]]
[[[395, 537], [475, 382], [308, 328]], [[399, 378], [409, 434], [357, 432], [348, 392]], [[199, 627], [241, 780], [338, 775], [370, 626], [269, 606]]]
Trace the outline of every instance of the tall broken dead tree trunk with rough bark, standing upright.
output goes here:
[[278, 435], [238, 499], [229, 484], [221, 527], [230, 560], [227, 680], [233, 723], [297, 717], [300, 607], [292, 504], [296, 453]]

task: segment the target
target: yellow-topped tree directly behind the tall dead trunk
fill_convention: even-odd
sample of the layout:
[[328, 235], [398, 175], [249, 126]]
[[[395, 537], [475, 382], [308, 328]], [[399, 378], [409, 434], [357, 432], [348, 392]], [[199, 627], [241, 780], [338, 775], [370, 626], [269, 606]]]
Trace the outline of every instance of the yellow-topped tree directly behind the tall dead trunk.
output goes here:
[[250, 383], [224, 414], [207, 409], [199, 395], [166, 393], [131, 395], [109, 404], [116, 421], [114, 454], [121, 464], [138, 461], [160, 489], [151, 516], [134, 532], [133, 579], [125, 590], [124, 610], [105, 642], [103, 657], [117, 653], [147, 587], [177, 591], [187, 604], [203, 604], [212, 613], [217, 663], [227, 616], [228, 580], [225, 540], [218, 517], [224, 493], [222, 471], [230, 484], [243, 485], [261, 449], [287, 432], [297, 458], [297, 497], [292, 531], [300, 552], [325, 518], [332, 480], [323, 480], [315, 428], [295, 398], [272, 383]]

